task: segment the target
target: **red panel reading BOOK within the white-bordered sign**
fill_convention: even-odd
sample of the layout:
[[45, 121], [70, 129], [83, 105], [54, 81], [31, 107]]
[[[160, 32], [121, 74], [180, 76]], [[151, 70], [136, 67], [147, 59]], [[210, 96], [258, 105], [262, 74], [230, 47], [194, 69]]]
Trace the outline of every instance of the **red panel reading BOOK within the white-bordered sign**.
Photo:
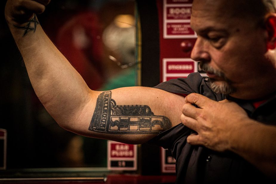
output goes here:
[[190, 20], [192, 7], [167, 7], [167, 19], [168, 20]]

